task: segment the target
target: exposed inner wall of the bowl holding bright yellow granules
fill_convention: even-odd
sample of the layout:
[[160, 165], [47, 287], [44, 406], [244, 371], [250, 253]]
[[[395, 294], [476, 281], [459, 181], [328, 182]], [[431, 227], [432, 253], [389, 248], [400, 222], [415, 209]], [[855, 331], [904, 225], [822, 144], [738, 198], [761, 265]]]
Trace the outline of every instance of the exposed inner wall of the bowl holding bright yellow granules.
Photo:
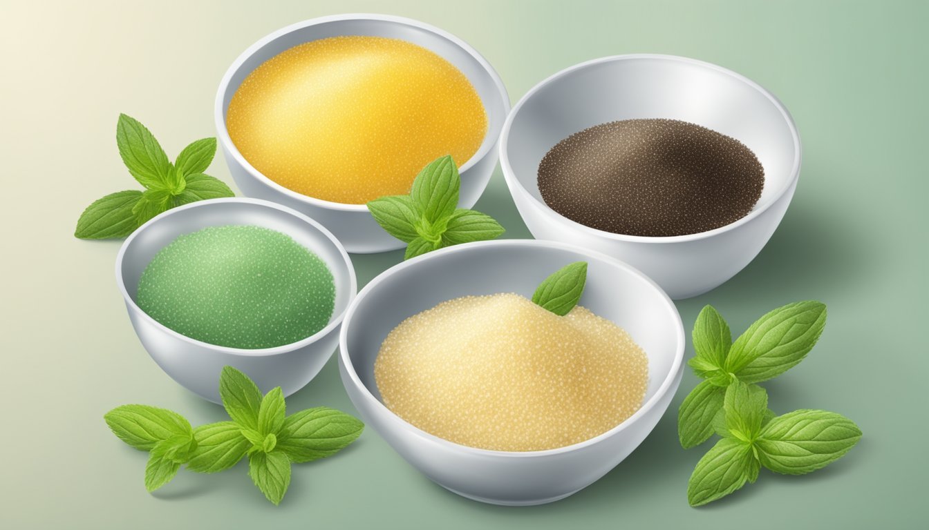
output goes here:
[[[469, 47], [463, 47], [467, 46], [463, 42], [458, 41], [451, 35], [442, 33], [444, 32], [430, 29], [415, 20], [390, 17], [364, 18], [364, 16], [346, 19], [313, 19], [290, 28], [284, 28], [280, 32], [272, 33], [252, 48], [246, 50], [242, 57], [230, 68], [230, 72], [227, 74], [228, 83], [225, 85], [222, 95], [223, 123], [221, 132], [223, 136], [228, 137], [225, 123], [226, 113], [229, 110], [229, 101], [232, 96], [248, 74], [255, 71], [255, 68], [269, 58], [273, 58], [295, 45], [302, 45], [328, 37], [340, 35], [387, 37], [401, 39], [425, 47], [439, 57], [451, 62], [474, 85], [484, 105], [484, 110], [487, 112], [488, 120], [487, 135], [484, 136], [483, 143], [481, 143], [480, 148], [469, 162], [478, 160], [493, 148], [500, 136], [506, 114], [509, 111], [509, 101], [504, 100], [503, 85], [499, 84], [499, 79], [496, 77], [496, 73], [492, 73], [490, 65], [480, 58], [477, 52], [470, 51]], [[229, 146], [233, 146], [231, 141], [229, 141]], [[471, 165], [469, 162], [464, 163], [461, 169], [464, 170], [466, 166]]]

